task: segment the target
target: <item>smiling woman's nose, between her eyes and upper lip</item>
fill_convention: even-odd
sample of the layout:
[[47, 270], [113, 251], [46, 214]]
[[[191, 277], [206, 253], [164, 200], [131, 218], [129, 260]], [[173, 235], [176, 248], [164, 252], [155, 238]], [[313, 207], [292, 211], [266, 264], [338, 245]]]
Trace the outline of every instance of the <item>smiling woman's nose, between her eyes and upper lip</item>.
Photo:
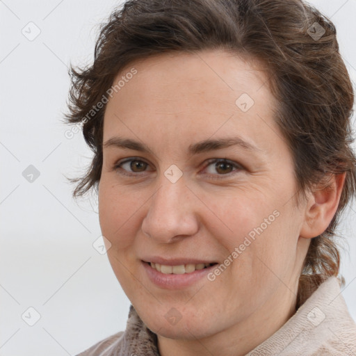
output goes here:
[[185, 185], [183, 177], [175, 183], [161, 177], [160, 186], [149, 201], [143, 219], [143, 233], [158, 243], [193, 236], [199, 227], [196, 204], [196, 197]]

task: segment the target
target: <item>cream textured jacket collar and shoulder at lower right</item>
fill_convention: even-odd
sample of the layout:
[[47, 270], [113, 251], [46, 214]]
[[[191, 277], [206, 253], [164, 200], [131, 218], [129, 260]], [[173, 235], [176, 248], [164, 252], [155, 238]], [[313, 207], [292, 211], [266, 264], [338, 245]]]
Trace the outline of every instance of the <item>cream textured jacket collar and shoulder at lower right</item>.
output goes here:
[[336, 277], [330, 277], [289, 321], [247, 356], [356, 355], [356, 324]]

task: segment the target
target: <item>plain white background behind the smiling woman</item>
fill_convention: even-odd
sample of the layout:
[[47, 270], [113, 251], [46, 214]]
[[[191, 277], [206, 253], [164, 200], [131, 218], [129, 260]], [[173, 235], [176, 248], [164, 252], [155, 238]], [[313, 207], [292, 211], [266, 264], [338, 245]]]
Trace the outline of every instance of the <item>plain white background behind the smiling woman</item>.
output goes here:
[[[355, 83], [356, 1], [310, 2], [337, 26]], [[99, 23], [118, 3], [0, 1], [1, 356], [75, 355], [126, 327], [129, 300], [106, 255], [92, 247], [101, 235], [95, 199], [76, 204], [65, 179], [84, 172], [91, 152], [81, 133], [65, 138], [68, 127], [60, 122], [67, 65], [91, 63]], [[29, 22], [41, 31], [33, 41], [22, 34]], [[40, 172], [33, 183], [22, 175], [29, 165]], [[355, 211], [353, 204], [340, 229], [348, 243], [343, 296], [354, 319]], [[29, 307], [40, 314], [32, 327], [22, 319]]]

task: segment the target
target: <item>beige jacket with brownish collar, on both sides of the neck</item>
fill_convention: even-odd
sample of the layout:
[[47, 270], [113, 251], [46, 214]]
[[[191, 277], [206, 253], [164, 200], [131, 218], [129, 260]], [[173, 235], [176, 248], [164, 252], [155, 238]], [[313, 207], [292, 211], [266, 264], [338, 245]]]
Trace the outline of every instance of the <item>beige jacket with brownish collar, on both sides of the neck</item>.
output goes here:
[[[321, 284], [280, 330], [246, 356], [356, 356], [356, 324], [339, 282]], [[130, 306], [127, 328], [77, 356], [159, 356], [156, 334]]]

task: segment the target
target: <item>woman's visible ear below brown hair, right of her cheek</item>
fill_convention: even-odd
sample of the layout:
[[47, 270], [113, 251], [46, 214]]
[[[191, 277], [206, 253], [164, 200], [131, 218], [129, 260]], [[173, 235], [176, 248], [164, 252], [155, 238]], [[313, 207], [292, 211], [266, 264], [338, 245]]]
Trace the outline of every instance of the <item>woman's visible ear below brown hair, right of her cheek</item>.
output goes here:
[[310, 193], [300, 237], [313, 238], [325, 232], [339, 206], [345, 178], [346, 172], [331, 175], [327, 186], [318, 186]]

